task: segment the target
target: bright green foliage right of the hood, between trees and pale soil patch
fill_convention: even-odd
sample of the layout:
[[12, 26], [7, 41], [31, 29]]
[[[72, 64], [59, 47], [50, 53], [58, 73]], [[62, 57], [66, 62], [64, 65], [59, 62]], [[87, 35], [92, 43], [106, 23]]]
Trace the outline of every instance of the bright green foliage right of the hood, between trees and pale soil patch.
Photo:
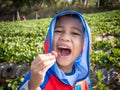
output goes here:
[[90, 25], [92, 35], [120, 35], [120, 10], [87, 14], [85, 18]]

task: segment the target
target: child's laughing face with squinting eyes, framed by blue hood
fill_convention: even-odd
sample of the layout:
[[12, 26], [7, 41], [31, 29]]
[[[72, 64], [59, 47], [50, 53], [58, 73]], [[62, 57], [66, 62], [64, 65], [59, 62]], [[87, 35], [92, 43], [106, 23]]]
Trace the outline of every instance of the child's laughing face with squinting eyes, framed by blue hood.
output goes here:
[[[53, 37], [53, 50], [58, 53], [57, 63], [71, 69], [83, 48], [83, 25], [73, 17], [62, 16], [57, 21]], [[69, 71], [69, 70], [65, 70]]]

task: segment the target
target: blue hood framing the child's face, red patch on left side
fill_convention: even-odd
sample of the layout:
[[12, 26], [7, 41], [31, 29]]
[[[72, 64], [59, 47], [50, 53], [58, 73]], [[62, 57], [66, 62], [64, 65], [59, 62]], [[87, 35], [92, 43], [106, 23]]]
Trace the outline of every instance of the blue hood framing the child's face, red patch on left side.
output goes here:
[[[50, 23], [46, 40], [44, 42], [44, 50], [45, 50], [45, 53], [50, 53], [53, 50], [52, 43], [53, 43], [53, 34], [54, 34], [56, 20], [58, 17], [66, 14], [75, 14], [79, 16], [79, 19], [82, 22], [84, 27], [84, 45], [83, 45], [82, 55], [78, 56], [78, 58], [75, 60], [75, 63], [74, 63], [77, 71], [76, 73], [78, 73], [76, 81], [81, 81], [87, 78], [89, 75], [89, 70], [90, 70], [89, 54], [90, 54], [90, 45], [91, 45], [90, 29], [81, 13], [73, 10], [67, 10], [54, 16], [54, 18]], [[54, 73], [54, 75], [57, 76], [62, 82], [69, 84], [65, 78], [64, 72], [59, 69], [56, 63], [51, 67], [51, 70]]]

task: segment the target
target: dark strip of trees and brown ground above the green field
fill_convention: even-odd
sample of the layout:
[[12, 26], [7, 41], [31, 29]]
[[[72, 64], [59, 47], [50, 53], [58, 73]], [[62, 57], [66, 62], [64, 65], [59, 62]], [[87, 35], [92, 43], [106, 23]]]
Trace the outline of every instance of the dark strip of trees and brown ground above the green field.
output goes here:
[[120, 8], [120, 0], [0, 0], [0, 21], [53, 17], [66, 9], [93, 13]]

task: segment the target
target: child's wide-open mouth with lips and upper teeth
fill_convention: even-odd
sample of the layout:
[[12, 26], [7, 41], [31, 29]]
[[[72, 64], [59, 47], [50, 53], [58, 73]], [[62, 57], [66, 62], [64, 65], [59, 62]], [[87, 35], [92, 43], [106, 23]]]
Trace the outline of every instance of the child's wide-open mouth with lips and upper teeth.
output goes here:
[[58, 47], [60, 56], [69, 56], [71, 54], [71, 49], [65, 46]]

